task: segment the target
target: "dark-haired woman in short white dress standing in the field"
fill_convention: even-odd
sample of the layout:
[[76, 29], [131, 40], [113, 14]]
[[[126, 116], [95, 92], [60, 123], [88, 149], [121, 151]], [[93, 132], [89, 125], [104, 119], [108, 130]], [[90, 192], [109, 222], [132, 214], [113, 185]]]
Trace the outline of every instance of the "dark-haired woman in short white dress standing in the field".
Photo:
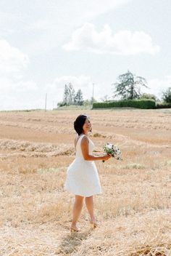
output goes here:
[[74, 122], [75, 131], [75, 160], [67, 169], [67, 179], [64, 188], [75, 194], [75, 204], [73, 207], [71, 232], [78, 232], [76, 226], [78, 217], [83, 207], [83, 199], [86, 197], [86, 207], [91, 217], [91, 228], [96, 228], [96, 220], [93, 215], [93, 195], [101, 193], [98, 171], [94, 163], [95, 160], [107, 161], [111, 156], [93, 156], [93, 142], [88, 138], [91, 131], [91, 121], [88, 116], [80, 115]]

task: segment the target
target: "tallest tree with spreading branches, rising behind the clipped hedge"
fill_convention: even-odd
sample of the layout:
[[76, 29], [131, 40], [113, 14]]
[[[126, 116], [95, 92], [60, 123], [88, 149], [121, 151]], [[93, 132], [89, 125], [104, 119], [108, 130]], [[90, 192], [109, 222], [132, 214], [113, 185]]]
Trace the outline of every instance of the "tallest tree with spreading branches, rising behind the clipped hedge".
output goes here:
[[113, 84], [114, 97], [120, 96], [124, 100], [138, 99], [141, 96], [141, 87], [147, 87], [146, 79], [135, 76], [128, 71], [118, 76], [117, 82]]

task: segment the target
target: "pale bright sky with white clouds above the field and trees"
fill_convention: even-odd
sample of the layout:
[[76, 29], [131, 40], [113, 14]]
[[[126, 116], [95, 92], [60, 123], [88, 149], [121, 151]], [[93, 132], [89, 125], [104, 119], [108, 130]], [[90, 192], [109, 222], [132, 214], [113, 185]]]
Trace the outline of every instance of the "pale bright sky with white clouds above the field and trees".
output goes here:
[[46, 94], [55, 108], [68, 83], [84, 100], [112, 99], [128, 70], [161, 98], [170, 13], [170, 0], [0, 0], [0, 111], [44, 108]]

